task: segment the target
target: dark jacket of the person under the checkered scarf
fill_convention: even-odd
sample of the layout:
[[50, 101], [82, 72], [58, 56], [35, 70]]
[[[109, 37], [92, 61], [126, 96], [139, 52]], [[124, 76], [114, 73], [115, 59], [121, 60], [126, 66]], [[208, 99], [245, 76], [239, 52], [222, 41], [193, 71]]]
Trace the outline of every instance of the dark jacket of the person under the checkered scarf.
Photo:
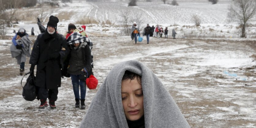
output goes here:
[[81, 74], [81, 70], [86, 68], [88, 71], [88, 77], [91, 75], [91, 49], [86, 42], [79, 45], [77, 49], [74, 46], [69, 45], [67, 59], [65, 60], [64, 68], [67, 69], [67, 73], [72, 75]]

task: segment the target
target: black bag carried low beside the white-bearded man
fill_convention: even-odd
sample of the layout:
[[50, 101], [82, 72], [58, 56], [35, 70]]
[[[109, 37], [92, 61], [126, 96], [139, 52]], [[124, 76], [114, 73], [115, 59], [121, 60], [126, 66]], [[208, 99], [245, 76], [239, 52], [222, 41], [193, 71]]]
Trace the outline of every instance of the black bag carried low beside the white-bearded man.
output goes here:
[[[29, 72], [30, 73], [30, 72]], [[29, 73], [26, 73], [24, 75], [24, 77], [29, 74]], [[23, 77], [23, 78], [24, 78]], [[22, 86], [22, 80], [23, 78], [21, 79], [21, 87], [23, 88], [23, 91], [22, 91], [22, 96], [25, 100], [28, 100], [28, 101], [33, 101], [36, 99], [37, 95], [38, 95], [38, 91], [36, 89], [36, 78], [35, 78], [35, 75], [34, 73], [30, 73], [29, 77], [27, 78], [27, 82], [26, 84], [24, 85], [24, 87]]]

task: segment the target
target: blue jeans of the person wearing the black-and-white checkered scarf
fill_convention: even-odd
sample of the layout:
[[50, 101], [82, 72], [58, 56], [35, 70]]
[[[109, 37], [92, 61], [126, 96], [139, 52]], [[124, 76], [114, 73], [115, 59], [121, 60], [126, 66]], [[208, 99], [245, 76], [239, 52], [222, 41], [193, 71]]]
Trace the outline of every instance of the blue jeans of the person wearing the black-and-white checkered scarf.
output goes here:
[[75, 99], [80, 99], [79, 97], [79, 85], [80, 85], [80, 92], [81, 92], [81, 99], [85, 99], [86, 94], [86, 83], [85, 81], [79, 80], [79, 75], [71, 75], [73, 91], [75, 94]]

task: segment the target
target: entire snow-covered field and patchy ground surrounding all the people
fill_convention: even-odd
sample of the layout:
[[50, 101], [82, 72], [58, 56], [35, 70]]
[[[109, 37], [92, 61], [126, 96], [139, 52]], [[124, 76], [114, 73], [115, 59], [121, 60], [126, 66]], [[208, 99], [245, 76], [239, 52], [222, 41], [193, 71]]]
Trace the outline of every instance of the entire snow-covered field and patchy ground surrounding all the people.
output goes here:
[[[45, 7], [45, 13], [58, 16], [58, 32], [65, 34], [67, 25], [83, 17], [100, 21], [90, 24], [86, 32], [94, 43], [94, 74], [100, 87], [115, 64], [136, 59], [147, 65], [173, 96], [191, 127], [256, 128], [256, 49], [255, 27], [248, 27], [246, 39], [239, 39], [237, 24], [227, 23], [228, 0], [211, 5], [206, 0], [180, 0], [179, 6], [162, 2], [79, 2], [59, 8]], [[48, 10], [47, 10], [48, 9]], [[37, 14], [39, 8], [26, 8]], [[136, 13], [149, 23], [176, 29], [176, 40], [150, 38], [150, 43], [134, 44], [121, 33], [121, 14]], [[193, 26], [191, 17], [201, 17], [200, 27]], [[35, 15], [34, 17], [37, 17]], [[103, 25], [109, 20], [113, 25]], [[46, 25], [48, 18], [45, 19]], [[254, 24], [254, 22], [251, 22]], [[132, 24], [132, 22], [131, 22]], [[174, 25], [175, 24], [175, 25]], [[23, 20], [8, 28], [7, 35], [25, 27], [39, 34], [35, 20]], [[211, 28], [211, 29], [210, 29]], [[30, 36], [35, 40], [36, 36]], [[86, 90], [86, 109], [76, 109], [70, 78], [62, 79], [57, 109], [38, 109], [39, 101], [25, 101], [19, 66], [10, 54], [11, 40], [0, 40], [0, 127], [78, 127], [97, 92]], [[29, 58], [25, 72], [29, 71]], [[234, 77], [235, 76], [235, 77]], [[26, 78], [26, 77], [25, 77]], [[25, 80], [23, 80], [25, 84]]]

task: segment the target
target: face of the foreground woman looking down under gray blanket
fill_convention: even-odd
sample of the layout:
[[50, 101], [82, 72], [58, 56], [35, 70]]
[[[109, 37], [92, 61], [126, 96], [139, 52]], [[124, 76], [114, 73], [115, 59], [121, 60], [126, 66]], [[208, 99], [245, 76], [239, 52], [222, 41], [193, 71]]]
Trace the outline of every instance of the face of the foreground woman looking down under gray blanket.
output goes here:
[[134, 121], [144, 115], [143, 92], [137, 78], [123, 80], [121, 95], [126, 119]]

